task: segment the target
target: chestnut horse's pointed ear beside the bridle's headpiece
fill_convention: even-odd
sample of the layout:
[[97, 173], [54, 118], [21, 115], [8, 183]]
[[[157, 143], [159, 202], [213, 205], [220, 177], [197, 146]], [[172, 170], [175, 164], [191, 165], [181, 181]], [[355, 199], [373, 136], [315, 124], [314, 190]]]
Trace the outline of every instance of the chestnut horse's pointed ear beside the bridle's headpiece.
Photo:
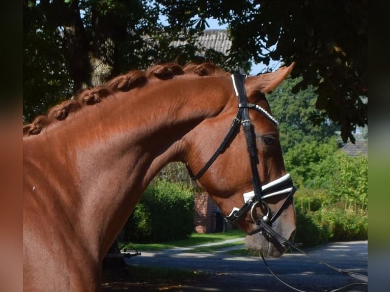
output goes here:
[[295, 63], [290, 66], [283, 66], [275, 72], [261, 74], [256, 77], [249, 77], [245, 82], [247, 91], [261, 91], [262, 93], [270, 93], [291, 73]]

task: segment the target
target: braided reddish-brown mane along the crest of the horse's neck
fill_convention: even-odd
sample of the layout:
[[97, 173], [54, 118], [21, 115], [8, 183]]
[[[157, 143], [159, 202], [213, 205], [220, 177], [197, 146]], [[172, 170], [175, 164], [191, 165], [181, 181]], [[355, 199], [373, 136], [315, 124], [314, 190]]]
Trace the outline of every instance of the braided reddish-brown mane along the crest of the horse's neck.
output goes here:
[[103, 85], [82, 90], [72, 99], [51, 107], [45, 115], [38, 115], [31, 124], [23, 125], [23, 136], [38, 135], [49, 124], [65, 120], [69, 113], [78, 111], [83, 106], [99, 103], [103, 98], [112, 96], [115, 92], [128, 92], [143, 87], [152, 78], [168, 80], [183, 74], [210, 76], [222, 73], [225, 71], [211, 63], [189, 63], [184, 67], [176, 63], [165, 63], [152, 66], [145, 71], [131, 70], [108, 80]]

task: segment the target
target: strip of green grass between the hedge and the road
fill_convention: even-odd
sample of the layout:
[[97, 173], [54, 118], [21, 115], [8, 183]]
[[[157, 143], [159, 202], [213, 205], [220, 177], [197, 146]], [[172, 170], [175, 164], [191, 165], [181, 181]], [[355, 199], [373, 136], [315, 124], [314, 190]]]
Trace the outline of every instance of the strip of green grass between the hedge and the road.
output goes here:
[[[120, 243], [121, 248], [127, 248], [128, 250], [139, 250], [139, 251], [158, 251], [164, 249], [170, 249], [174, 247], [191, 247], [201, 245], [205, 243], [216, 243], [229, 239], [236, 239], [245, 237], [246, 233], [241, 229], [232, 229], [225, 232], [218, 233], [192, 233], [187, 239], [169, 241], [163, 243]], [[237, 243], [236, 243], [237, 245]]]

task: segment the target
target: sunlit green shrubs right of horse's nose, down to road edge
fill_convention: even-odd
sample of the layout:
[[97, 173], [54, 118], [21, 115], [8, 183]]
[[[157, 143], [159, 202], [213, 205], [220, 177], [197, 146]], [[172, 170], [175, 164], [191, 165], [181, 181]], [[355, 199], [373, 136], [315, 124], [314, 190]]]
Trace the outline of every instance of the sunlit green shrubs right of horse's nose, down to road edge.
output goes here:
[[349, 157], [329, 140], [295, 145], [285, 163], [298, 188], [297, 242], [313, 246], [367, 239], [367, 156]]

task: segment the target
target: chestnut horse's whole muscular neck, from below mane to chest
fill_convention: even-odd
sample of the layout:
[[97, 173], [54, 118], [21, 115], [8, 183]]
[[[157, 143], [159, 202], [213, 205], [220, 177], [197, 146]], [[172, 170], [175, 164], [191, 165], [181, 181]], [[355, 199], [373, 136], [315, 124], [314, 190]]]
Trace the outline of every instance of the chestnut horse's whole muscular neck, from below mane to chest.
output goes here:
[[117, 93], [36, 137], [50, 144], [45, 160], [53, 168], [57, 158], [66, 161], [56, 184], [68, 185], [56, 189], [72, 197], [74, 216], [83, 234], [100, 245], [100, 257], [158, 171], [185, 159], [182, 138], [226, 104], [226, 93], [215, 88], [227, 86], [209, 79], [178, 78]]

